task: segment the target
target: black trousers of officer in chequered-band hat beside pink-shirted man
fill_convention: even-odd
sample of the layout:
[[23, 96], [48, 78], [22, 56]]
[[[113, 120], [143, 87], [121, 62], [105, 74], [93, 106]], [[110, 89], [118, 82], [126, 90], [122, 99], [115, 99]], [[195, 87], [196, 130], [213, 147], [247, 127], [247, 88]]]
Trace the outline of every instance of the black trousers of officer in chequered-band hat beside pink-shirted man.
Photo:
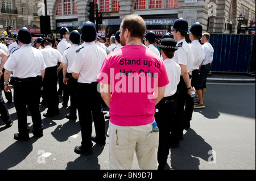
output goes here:
[[167, 162], [170, 145], [179, 144], [178, 121], [175, 117], [177, 109], [177, 94], [160, 100], [156, 105], [155, 121], [159, 128], [158, 163]]

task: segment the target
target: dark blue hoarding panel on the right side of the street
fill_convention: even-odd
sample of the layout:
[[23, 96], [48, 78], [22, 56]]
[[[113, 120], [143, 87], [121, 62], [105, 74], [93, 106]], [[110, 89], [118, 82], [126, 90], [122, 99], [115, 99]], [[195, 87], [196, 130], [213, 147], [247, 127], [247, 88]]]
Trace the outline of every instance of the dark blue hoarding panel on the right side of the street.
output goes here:
[[255, 35], [210, 34], [211, 71], [255, 72]]

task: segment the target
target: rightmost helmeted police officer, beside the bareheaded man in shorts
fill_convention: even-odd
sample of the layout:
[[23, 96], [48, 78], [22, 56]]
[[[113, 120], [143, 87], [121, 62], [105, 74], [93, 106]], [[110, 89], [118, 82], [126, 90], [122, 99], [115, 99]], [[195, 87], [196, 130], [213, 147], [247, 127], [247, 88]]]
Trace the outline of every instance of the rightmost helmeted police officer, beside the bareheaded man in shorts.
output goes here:
[[[191, 28], [189, 29], [189, 39], [191, 40], [191, 44], [189, 44], [189, 47], [191, 47], [194, 61], [192, 65], [192, 78], [191, 78], [191, 86], [195, 87], [196, 90], [198, 90], [199, 86], [199, 66], [204, 60], [204, 50], [202, 45], [199, 42], [199, 39], [203, 36], [203, 26], [201, 26], [200, 23], [193, 23]], [[194, 100], [191, 98], [191, 96], [188, 96], [187, 102], [186, 102], [186, 114], [185, 114], [185, 123], [184, 128], [190, 128], [190, 121], [192, 120], [192, 114], [193, 114], [193, 108], [194, 108]]]

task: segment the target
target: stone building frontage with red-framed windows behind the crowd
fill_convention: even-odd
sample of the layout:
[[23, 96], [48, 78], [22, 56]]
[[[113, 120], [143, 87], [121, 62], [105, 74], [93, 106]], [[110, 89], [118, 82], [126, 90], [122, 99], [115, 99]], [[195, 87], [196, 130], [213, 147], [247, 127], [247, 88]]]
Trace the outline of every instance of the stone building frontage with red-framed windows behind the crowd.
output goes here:
[[[189, 26], [199, 22], [204, 32], [236, 33], [237, 17], [242, 14], [242, 27], [255, 22], [255, 0], [47, 0], [47, 15], [51, 30], [57, 35], [61, 27], [80, 29], [88, 19], [88, 2], [98, 4], [103, 23], [98, 27], [103, 36], [119, 30], [121, 19], [127, 14], [141, 15], [147, 31], [157, 36], [170, 32], [177, 18], [188, 20]], [[40, 27], [39, 15], [44, 15], [44, 0], [2, 0], [0, 29], [21, 28], [26, 24]], [[242, 33], [249, 33], [243, 31]]]

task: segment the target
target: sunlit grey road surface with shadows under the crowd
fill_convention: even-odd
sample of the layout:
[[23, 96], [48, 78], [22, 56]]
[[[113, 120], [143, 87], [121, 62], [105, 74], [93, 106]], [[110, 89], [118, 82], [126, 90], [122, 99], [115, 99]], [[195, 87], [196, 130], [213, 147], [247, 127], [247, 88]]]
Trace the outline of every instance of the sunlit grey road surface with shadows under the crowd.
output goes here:
[[[5, 129], [0, 120], [0, 169], [74, 170], [109, 168], [109, 138], [105, 146], [94, 145], [93, 155], [79, 155], [79, 121], [64, 118], [69, 108], [61, 106], [60, 115], [43, 117], [44, 136], [16, 141], [18, 121], [13, 103], [7, 103], [14, 124]], [[107, 109], [105, 108], [104, 113]], [[105, 121], [108, 128], [109, 121]], [[32, 131], [28, 112], [28, 127]], [[94, 129], [93, 129], [94, 132]], [[139, 169], [136, 156], [132, 169]], [[255, 83], [208, 83], [205, 108], [195, 110], [191, 128], [184, 131], [180, 148], [171, 149], [166, 169], [253, 169], [255, 170]]]

